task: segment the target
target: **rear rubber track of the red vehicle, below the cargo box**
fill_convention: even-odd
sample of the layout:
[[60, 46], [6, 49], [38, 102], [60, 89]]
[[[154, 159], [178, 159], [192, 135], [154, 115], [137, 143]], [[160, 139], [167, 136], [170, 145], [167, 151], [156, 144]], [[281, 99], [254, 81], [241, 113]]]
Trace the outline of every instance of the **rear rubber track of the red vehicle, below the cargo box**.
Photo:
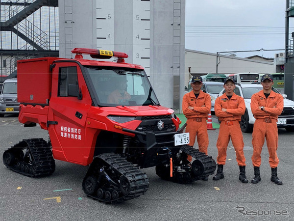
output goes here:
[[52, 174], [55, 170], [55, 161], [53, 159], [51, 149], [48, 147], [47, 142], [42, 138], [23, 139], [23, 141], [6, 150], [4, 154], [8, 151], [17, 152], [16, 149], [24, 149], [24, 142], [28, 146], [25, 148], [29, 148], [32, 154], [33, 162], [35, 163], [35, 173], [30, 174], [29, 172], [21, 171], [16, 166], [17, 162], [12, 166], [8, 166], [5, 161], [3, 161], [4, 165], [15, 172], [30, 177], [41, 177]]

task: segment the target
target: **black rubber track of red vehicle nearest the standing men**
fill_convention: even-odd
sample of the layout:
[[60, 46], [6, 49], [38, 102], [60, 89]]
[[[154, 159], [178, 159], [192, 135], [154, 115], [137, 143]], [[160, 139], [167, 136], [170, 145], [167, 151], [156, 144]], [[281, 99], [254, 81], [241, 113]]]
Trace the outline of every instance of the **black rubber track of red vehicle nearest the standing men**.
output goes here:
[[183, 145], [180, 149], [182, 152], [189, 154], [196, 160], [200, 161], [204, 167], [204, 171], [201, 176], [192, 178], [192, 182], [214, 174], [217, 164], [212, 157], [205, 155], [205, 153], [199, 152], [198, 149], [189, 145]]

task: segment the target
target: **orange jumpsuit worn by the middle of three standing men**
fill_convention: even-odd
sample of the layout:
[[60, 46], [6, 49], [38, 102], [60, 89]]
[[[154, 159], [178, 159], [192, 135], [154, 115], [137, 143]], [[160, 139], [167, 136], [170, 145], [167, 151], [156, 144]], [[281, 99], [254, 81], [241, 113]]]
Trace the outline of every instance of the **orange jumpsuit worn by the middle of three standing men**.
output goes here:
[[[221, 111], [222, 108], [226, 109], [226, 112]], [[215, 102], [215, 113], [219, 117], [219, 120], [221, 120], [220, 133], [217, 141], [217, 163], [219, 165], [225, 165], [226, 150], [231, 138], [236, 151], [238, 166], [246, 166], [243, 152], [243, 135], [239, 123], [241, 116], [245, 113], [245, 109], [244, 99], [235, 93], [233, 93], [230, 100], [224, 93]]]

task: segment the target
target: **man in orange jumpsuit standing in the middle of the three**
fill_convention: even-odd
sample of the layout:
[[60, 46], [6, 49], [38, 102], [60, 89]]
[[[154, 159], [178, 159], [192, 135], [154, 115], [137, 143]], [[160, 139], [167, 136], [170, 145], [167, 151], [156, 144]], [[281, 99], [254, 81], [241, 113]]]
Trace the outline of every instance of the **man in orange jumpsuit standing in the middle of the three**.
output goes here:
[[232, 77], [227, 77], [225, 79], [223, 87], [225, 88], [225, 93], [218, 97], [215, 102], [215, 113], [221, 121], [221, 126], [217, 141], [218, 170], [213, 180], [224, 178], [223, 165], [225, 165], [226, 150], [231, 138], [236, 151], [236, 160], [240, 168], [239, 180], [241, 180], [242, 183], [248, 183], [245, 175], [246, 164], [243, 152], [243, 135], [239, 123], [239, 121], [241, 121], [241, 116], [245, 113], [245, 101], [242, 97], [234, 93], [236, 85]]

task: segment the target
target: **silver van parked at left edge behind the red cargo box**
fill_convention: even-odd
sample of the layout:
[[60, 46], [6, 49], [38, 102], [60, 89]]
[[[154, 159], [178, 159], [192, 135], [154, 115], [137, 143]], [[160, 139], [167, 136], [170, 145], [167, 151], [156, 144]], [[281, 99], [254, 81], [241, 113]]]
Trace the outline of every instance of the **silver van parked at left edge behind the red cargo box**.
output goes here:
[[0, 117], [8, 113], [19, 113], [20, 103], [17, 102], [17, 79], [7, 79], [2, 85], [0, 94]]

